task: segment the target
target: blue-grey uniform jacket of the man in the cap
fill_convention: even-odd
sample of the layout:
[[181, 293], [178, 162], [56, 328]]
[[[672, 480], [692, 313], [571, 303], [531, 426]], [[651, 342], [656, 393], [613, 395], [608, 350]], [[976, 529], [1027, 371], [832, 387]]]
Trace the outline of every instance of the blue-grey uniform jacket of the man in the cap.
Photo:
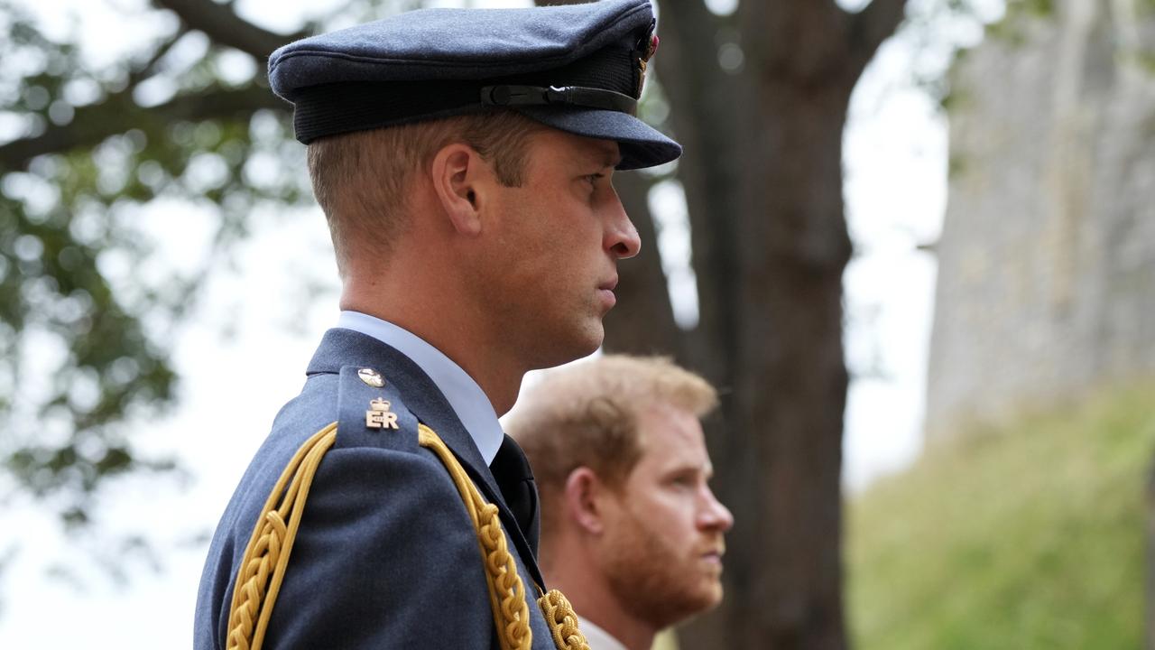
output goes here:
[[[380, 372], [385, 386], [365, 384], [362, 368]], [[392, 402], [400, 430], [365, 427], [365, 411], [380, 397]], [[225, 647], [233, 583], [256, 517], [297, 449], [335, 421], [336, 442], [308, 494], [264, 648], [498, 648], [472, 523], [445, 466], [418, 445], [418, 421], [500, 509], [526, 585], [532, 647], [553, 648], [535, 603], [534, 583], [543, 584], [536, 539], [517, 529], [472, 438], [420, 368], [350, 330], [326, 333], [304, 390], [277, 415], [217, 526], [198, 594], [194, 648]]]

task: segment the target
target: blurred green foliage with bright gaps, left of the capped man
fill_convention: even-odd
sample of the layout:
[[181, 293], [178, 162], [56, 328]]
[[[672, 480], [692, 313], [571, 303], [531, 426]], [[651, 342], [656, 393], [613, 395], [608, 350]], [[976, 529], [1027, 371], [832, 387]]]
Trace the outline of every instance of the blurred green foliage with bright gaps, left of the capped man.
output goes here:
[[[307, 195], [281, 170], [296, 143], [262, 66], [238, 76], [244, 54], [170, 19], [94, 67], [0, 1], [0, 59], [21, 61], [0, 72], [0, 485], [67, 526], [107, 479], [174, 466], [142, 458], [126, 419], [174, 399], [173, 332], [249, 210]], [[199, 267], [164, 263], [157, 201], [216, 217]]]

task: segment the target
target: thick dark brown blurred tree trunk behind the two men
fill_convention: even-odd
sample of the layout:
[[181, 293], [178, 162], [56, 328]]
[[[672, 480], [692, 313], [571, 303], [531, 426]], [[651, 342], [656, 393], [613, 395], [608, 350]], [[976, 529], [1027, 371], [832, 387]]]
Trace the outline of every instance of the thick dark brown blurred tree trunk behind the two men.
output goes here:
[[[678, 178], [700, 323], [665, 342], [672, 316], [658, 256], [648, 256], [623, 264], [631, 295], [606, 320], [606, 347], [673, 353], [723, 391], [710, 451], [737, 522], [726, 597], [681, 630], [681, 647], [842, 649], [842, 272], [851, 252], [842, 131], [850, 93], [906, 2], [849, 14], [833, 0], [747, 1], [728, 17], [701, 0], [661, 5], [656, 65], [686, 147]], [[619, 178], [644, 238], [649, 213], [634, 182]]]

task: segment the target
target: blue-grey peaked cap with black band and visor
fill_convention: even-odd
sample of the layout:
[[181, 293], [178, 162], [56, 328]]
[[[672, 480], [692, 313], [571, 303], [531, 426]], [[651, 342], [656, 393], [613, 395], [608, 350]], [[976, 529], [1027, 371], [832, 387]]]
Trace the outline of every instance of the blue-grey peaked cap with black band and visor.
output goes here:
[[420, 9], [280, 47], [269, 82], [305, 143], [506, 106], [653, 167], [681, 154], [633, 115], [653, 29], [648, 0]]

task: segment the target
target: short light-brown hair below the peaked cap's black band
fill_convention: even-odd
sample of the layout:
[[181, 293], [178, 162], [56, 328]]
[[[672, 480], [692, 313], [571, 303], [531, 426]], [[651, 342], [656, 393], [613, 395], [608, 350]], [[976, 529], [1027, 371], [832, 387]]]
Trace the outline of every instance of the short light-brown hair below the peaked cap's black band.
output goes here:
[[508, 187], [522, 184], [529, 136], [547, 128], [509, 110], [417, 121], [321, 138], [308, 145], [313, 194], [329, 223], [344, 276], [356, 245], [386, 252], [408, 226], [412, 175], [453, 142], [469, 145]]

